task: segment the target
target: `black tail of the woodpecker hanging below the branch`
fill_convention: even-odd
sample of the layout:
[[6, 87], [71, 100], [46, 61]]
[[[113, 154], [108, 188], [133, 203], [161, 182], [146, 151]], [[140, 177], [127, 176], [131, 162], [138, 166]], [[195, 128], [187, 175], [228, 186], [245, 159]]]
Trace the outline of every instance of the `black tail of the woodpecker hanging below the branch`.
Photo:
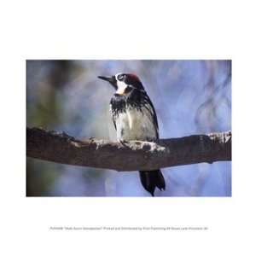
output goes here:
[[155, 187], [160, 190], [166, 189], [165, 178], [160, 170], [139, 171], [139, 173], [144, 189], [146, 189], [152, 196], [154, 196]]

